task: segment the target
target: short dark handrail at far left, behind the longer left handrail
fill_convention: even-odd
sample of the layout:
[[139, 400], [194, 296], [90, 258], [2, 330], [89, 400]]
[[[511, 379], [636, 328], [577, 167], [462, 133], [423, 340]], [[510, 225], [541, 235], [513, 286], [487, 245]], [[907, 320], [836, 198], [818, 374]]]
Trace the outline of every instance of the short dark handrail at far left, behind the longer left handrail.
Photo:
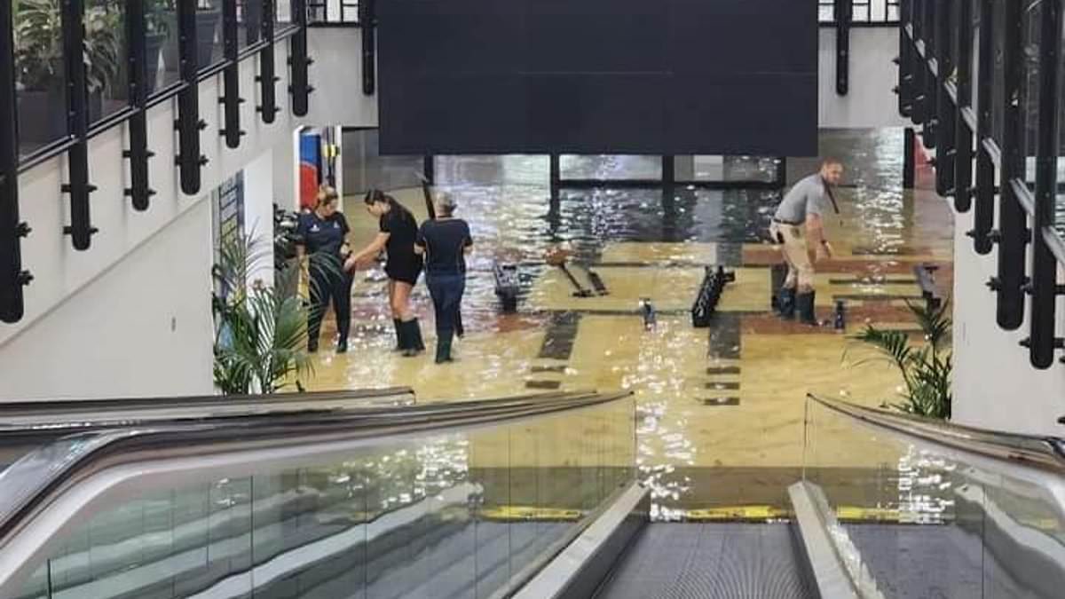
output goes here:
[[358, 400], [387, 395], [414, 394], [410, 387], [384, 387], [381, 389], [360, 389], [345, 391], [305, 391], [251, 395], [186, 395], [164, 398], [126, 398], [106, 400], [49, 400], [47, 402], [2, 402], [0, 403], [0, 422], [4, 418], [28, 415], [63, 415], [71, 410], [121, 411], [129, 409], [167, 408], [174, 405], [233, 405], [253, 404], [268, 405], [292, 401], [320, 402], [333, 400]]

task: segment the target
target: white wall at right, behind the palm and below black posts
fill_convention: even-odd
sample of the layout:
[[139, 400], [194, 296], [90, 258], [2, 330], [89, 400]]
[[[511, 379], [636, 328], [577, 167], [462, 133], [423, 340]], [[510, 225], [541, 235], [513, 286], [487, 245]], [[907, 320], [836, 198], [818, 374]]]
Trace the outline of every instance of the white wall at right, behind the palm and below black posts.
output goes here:
[[[987, 280], [998, 270], [996, 253], [980, 256], [965, 232], [972, 229], [972, 211], [954, 218], [954, 406], [961, 424], [1028, 433], [1063, 435], [1058, 419], [1065, 416], [1065, 366], [1041, 371], [1031, 366], [1028, 350], [1017, 343], [1029, 324], [1015, 331], [999, 328], [996, 295]], [[1065, 279], [1062, 274], [1059, 279]], [[1031, 314], [1026, 309], [1026, 317]], [[1065, 321], [1065, 301], [1058, 305]], [[1059, 327], [1059, 335], [1065, 327]]]

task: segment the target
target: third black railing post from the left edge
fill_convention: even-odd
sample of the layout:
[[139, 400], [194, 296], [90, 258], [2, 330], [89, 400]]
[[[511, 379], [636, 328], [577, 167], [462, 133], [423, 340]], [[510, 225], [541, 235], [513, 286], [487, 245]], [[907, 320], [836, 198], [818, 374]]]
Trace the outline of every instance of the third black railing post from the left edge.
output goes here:
[[126, 45], [129, 48], [130, 147], [122, 157], [130, 161], [130, 187], [126, 195], [134, 210], [147, 210], [155, 192], [150, 188], [148, 159], [148, 41], [145, 32], [144, 0], [126, 0]]

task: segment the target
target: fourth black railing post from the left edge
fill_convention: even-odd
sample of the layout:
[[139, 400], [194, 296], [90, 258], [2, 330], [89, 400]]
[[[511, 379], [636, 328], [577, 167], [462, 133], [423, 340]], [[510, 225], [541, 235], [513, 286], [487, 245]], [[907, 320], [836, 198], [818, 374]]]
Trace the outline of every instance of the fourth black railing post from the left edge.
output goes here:
[[196, 42], [196, 2], [178, 2], [178, 54], [182, 87], [178, 93], [178, 156], [181, 192], [197, 195], [202, 187], [201, 168], [207, 164], [200, 153], [199, 134], [207, 124], [199, 116], [199, 56]]

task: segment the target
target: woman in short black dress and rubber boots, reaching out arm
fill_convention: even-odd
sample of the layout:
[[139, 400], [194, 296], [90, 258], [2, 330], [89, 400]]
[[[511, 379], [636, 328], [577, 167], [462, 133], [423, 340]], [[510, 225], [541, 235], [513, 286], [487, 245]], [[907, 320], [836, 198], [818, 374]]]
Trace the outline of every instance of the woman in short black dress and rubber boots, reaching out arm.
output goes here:
[[389, 307], [396, 330], [396, 351], [403, 352], [404, 356], [416, 356], [425, 351], [422, 326], [410, 307], [410, 292], [422, 274], [422, 257], [414, 253], [417, 221], [396, 198], [379, 190], [371, 190], [363, 201], [366, 211], [377, 216], [377, 237], [348, 258], [344, 270], [367, 264], [381, 249], [388, 254], [384, 273], [389, 276]]

